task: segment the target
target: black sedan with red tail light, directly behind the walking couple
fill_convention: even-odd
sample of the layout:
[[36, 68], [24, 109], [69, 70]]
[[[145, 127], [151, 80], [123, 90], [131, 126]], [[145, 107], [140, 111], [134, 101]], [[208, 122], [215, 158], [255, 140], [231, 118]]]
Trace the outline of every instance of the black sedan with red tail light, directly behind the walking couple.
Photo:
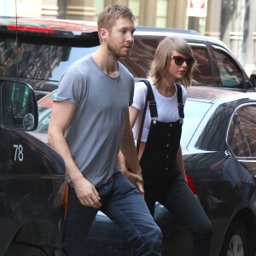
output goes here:
[[[211, 256], [254, 255], [256, 239], [256, 94], [190, 86], [181, 145], [189, 187], [213, 226]], [[38, 102], [38, 128], [47, 136], [55, 91]], [[46, 139], [47, 140], [47, 139]], [[163, 255], [190, 255], [192, 236], [157, 203]], [[130, 256], [125, 234], [98, 212], [86, 255]]]

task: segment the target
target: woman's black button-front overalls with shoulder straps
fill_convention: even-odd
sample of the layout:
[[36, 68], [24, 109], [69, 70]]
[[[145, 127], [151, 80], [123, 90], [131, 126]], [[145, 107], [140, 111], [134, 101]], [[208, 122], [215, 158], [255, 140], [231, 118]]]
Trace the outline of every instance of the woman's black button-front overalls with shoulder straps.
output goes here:
[[[183, 124], [182, 88], [177, 85], [177, 108], [180, 120], [164, 123], [156, 120], [157, 108], [151, 86], [148, 102], [151, 125], [140, 164], [143, 169], [145, 201], [154, 216], [155, 202], [171, 211], [194, 236], [193, 256], [207, 256], [212, 237], [212, 224], [201, 204], [184, 182], [177, 166], [177, 150]], [[172, 111], [172, 110], [170, 110]]]

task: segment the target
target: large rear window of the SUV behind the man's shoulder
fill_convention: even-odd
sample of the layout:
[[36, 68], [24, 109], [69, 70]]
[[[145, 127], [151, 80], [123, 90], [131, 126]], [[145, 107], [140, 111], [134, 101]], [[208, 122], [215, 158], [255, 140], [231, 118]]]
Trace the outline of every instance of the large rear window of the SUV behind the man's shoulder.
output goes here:
[[[31, 41], [31, 39], [29, 39]], [[20, 41], [16, 58], [15, 38], [0, 39], [0, 75], [20, 79], [38, 79], [58, 81], [63, 71], [81, 56], [89, 55], [98, 46], [90, 48], [73, 47], [64, 42], [63, 45], [40, 44]], [[17, 59], [19, 67], [16, 68]]]

